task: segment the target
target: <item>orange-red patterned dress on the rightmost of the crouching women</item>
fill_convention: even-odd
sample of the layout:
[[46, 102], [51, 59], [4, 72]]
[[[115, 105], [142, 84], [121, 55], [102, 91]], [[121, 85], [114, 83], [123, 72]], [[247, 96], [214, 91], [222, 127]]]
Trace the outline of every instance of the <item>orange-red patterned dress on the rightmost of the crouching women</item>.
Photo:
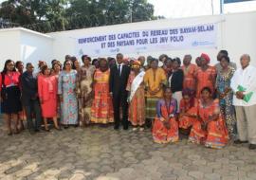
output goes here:
[[[204, 144], [210, 148], [223, 148], [228, 143], [229, 132], [220, 114], [219, 100], [215, 99], [207, 107], [204, 107], [199, 101], [198, 112], [202, 121], [196, 120], [193, 123], [189, 141], [196, 144]], [[216, 114], [219, 115], [219, 118], [208, 122], [210, 116]], [[205, 130], [202, 128], [204, 122], [208, 122]]]

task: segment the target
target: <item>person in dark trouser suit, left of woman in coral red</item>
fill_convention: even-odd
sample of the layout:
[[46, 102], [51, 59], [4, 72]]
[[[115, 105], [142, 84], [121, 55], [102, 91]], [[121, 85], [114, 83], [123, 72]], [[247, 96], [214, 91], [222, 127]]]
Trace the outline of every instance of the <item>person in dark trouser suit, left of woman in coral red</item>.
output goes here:
[[[22, 102], [27, 116], [27, 128], [30, 134], [40, 132], [41, 108], [37, 91], [37, 79], [33, 75], [34, 66], [31, 63], [26, 65], [27, 71], [21, 76]], [[35, 115], [35, 125], [31, 114]]]

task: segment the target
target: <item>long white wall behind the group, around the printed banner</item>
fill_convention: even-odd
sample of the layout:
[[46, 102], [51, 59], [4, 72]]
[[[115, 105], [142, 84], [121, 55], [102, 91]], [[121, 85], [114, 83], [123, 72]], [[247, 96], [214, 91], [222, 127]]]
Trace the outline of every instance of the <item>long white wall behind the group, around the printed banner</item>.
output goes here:
[[[211, 63], [216, 63], [216, 54], [220, 49], [227, 49], [232, 61], [239, 63], [239, 58], [243, 53], [248, 53], [252, 60], [256, 60], [256, 11], [237, 14], [214, 15], [214, 16], [201, 16], [194, 18], [184, 19], [166, 19], [150, 22], [141, 22], [133, 24], [123, 24], [116, 26], [106, 27], [92, 27], [77, 30], [70, 30], [64, 32], [53, 32], [48, 35], [54, 37], [53, 44], [54, 58], [64, 60], [64, 55], [74, 55], [75, 42], [78, 38], [92, 34], [106, 34], [111, 32], [121, 32], [127, 30], [137, 29], [151, 29], [151, 28], [164, 28], [164, 27], [180, 27], [190, 26], [206, 23], [218, 23], [218, 47], [211, 49], [185, 49], [175, 51], [157, 51], [148, 52], [143, 54], [125, 54], [125, 56], [137, 57], [138, 55], [153, 55], [158, 57], [160, 54], [168, 54], [171, 57], [183, 57], [185, 54], [190, 53], [195, 58], [206, 52], [210, 54]], [[90, 55], [90, 52], [86, 52]], [[115, 54], [113, 54], [115, 56]], [[80, 57], [79, 57], [80, 58]], [[252, 61], [256, 65], [256, 61]]]

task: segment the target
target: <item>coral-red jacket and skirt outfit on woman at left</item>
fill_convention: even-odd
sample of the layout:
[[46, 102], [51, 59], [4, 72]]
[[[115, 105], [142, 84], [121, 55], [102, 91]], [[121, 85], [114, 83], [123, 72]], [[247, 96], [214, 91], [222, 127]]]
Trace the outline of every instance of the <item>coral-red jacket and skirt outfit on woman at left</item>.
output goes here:
[[38, 81], [39, 98], [43, 99], [42, 117], [57, 117], [57, 84], [55, 76], [42, 76]]

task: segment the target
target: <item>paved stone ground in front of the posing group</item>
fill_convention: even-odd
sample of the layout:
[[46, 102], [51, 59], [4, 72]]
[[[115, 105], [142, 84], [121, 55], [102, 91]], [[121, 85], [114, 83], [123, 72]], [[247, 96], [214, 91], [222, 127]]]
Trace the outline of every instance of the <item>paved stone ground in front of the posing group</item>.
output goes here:
[[112, 127], [13, 136], [1, 129], [0, 179], [256, 180], [256, 151], [211, 150], [186, 139], [158, 145], [149, 131]]

